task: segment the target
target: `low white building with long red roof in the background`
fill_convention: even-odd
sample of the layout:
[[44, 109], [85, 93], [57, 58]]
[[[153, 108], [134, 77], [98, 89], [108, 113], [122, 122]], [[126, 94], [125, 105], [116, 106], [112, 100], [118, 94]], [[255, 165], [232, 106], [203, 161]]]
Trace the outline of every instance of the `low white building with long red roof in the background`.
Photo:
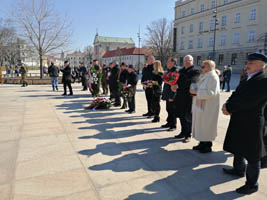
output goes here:
[[124, 62], [126, 65], [133, 65], [136, 71], [142, 71], [147, 57], [152, 55], [151, 49], [146, 48], [123, 48], [113, 51], [106, 51], [103, 55], [103, 64], [109, 64], [112, 61]]

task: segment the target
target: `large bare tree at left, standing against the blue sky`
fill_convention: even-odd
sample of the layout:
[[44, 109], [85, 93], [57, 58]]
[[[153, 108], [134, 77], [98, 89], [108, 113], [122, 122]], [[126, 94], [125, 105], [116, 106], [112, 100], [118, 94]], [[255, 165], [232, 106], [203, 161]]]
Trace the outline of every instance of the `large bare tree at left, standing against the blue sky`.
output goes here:
[[72, 34], [67, 17], [57, 13], [52, 0], [17, 0], [12, 11], [21, 37], [38, 53], [40, 78], [43, 78], [43, 56], [65, 47]]

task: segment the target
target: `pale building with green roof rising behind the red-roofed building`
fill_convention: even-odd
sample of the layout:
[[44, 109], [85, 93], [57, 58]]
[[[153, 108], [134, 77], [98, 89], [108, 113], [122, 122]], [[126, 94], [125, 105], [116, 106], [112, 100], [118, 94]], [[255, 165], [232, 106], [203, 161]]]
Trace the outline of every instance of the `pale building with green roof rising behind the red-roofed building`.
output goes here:
[[102, 64], [102, 58], [106, 51], [133, 47], [135, 47], [135, 43], [132, 38], [103, 37], [96, 34], [94, 39], [94, 59], [97, 59]]

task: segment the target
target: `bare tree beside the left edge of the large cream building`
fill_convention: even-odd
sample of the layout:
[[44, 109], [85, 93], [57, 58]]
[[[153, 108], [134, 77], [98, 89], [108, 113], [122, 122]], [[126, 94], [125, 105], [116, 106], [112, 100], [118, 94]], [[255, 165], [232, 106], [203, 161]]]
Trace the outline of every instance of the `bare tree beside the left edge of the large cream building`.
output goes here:
[[146, 30], [146, 46], [152, 48], [155, 56], [165, 64], [168, 57], [173, 55], [171, 23], [166, 18], [158, 19], [151, 22]]

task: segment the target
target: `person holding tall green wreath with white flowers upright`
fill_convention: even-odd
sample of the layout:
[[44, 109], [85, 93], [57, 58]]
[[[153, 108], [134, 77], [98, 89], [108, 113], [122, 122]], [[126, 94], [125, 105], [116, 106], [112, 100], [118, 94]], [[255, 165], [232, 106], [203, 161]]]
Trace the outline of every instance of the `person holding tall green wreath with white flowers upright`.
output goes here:
[[98, 65], [98, 60], [93, 60], [93, 66], [90, 70], [90, 74], [91, 74], [90, 91], [93, 97], [98, 97], [99, 92], [100, 92], [100, 83], [101, 83], [101, 77], [102, 77], [102, 72]]

